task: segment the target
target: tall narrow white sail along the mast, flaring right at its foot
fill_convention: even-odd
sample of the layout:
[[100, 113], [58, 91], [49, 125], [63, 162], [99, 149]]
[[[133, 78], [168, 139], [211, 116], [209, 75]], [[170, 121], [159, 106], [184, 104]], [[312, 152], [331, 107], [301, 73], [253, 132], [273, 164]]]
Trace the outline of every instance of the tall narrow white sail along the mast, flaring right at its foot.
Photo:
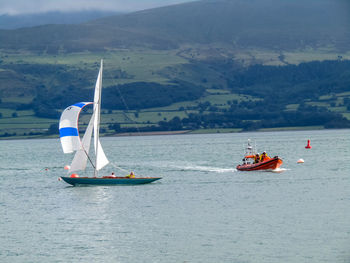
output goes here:
[[100, 113], [101, 113], [101, 91], [102, 91], [103, 61], [98, 73], [94, 94], [94, 146], [96, 154], [95, 170], [98, 171], [109, 163], [100, 143]]

